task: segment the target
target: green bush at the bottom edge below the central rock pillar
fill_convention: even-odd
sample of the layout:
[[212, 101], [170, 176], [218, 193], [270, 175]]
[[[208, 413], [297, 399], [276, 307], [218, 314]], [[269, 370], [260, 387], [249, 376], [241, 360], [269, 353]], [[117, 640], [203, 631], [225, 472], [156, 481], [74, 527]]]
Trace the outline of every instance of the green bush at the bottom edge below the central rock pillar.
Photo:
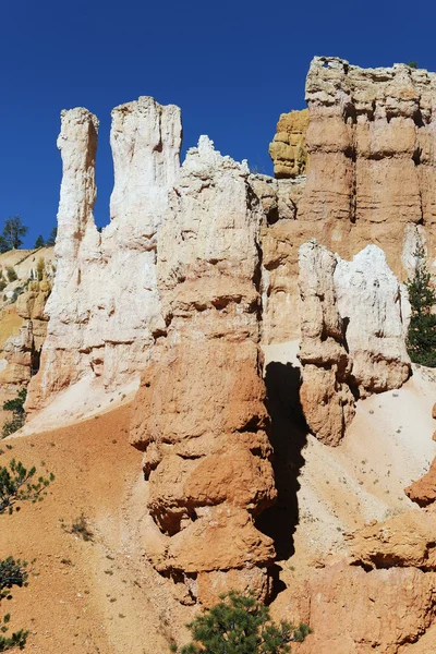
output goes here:
[[221, 602], [187, 625], [194, 641], [172, 652], [180, 654], [284, 654], [291, 642], [303, 642], [307, 625], [274, 625], [267, 606], [249, 596], [230, 592]]

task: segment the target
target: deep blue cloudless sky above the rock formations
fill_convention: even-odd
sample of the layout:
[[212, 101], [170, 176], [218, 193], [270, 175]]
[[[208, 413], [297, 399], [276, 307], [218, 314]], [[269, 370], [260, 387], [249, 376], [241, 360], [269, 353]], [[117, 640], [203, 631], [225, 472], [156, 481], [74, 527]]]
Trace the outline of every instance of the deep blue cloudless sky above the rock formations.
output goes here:
[[270, 173], [281, 112], [304, 107], [312, 57], [436, 70], [434, 2], [410, 0], [3, 0], [0, 2], [0, 230], [21, 215], [25, 245], [56, 223], [59, 113], [100, 120], [96, 221], [109, 219], [110, 110], [154, 96], [182, 108], [184, 150], [208, 134]]

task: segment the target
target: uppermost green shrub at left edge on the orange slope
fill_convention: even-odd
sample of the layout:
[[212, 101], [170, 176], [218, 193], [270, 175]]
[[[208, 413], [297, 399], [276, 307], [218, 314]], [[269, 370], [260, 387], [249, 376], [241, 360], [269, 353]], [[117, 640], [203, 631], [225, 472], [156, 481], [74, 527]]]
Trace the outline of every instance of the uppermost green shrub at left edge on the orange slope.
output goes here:
[[47, 486], [55, 480], [50, 473], [49, 479], [38, 477], [36, 483], [32, 483], [36, 474], [36, 468], [26, 470], [21, 461], [15, 459], [7, 465], [0, 467], [0, 516], [5, 511], [12, 513], [19, 510], [16, 504], [22, 501], [41, 501], [43, 496], [47, 495]]

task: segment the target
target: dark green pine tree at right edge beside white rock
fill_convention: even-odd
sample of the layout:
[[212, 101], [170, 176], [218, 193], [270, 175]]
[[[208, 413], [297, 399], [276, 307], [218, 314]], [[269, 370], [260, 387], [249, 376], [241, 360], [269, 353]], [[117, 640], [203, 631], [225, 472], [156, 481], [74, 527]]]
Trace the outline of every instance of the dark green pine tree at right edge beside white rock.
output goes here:
[[413, 253], [415, 270], [405, 286], [412, 307], [408, 332], [408, 352], [413, 363], [436, 367], [436, 290], [432, 284], [425, 251], [419, 245]]

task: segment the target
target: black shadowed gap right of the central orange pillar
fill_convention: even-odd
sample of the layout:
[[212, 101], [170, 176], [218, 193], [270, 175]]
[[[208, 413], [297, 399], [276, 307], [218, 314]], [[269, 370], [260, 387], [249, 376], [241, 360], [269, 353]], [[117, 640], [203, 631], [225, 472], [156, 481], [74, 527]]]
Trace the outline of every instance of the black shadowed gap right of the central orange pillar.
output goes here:
[[299, 524], [298, 477], [304, 465], [302, 450], [308, 427], [300, 403], [301, 371], [290, 363], [266, 367], [267, 409], [271, 419], [272, 468], [278, 492], [276, 504], [256, 520], [256, 526], [276, 545], [277, 561], [294, 554], [293, 534]]

